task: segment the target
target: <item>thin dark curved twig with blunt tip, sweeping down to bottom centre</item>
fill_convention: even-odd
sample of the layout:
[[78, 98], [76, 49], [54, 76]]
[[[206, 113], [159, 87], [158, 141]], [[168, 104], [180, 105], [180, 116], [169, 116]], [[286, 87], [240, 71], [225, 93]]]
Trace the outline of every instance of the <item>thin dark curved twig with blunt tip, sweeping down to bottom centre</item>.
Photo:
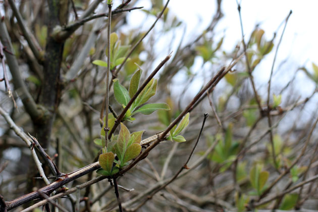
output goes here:
[[[140, 208], [142, 205], [144, 205], [149, 199], [151, 199], [154, 194], [156, 194], [158, 191], [164, 189], [167, 185], [169, 185], [171, 182], [173, 182], [175, 179], [177, 179], [177, 177], [179, 176], [179, 174], [184, 170], [184, 169], [189, 169], [189, 167], [187, 166], [188, 165], [188, 162], [190, 161], [190, 158], [192, 157], [193, 155], [193, 152], [200, 140], [200, 137], [201, 137], [201, 133], [203, 131], [203, 128], [204, 128], [204, 124], [205, 124], [205, 120], [207, 119], [208, 117], [208, 114], [204, 114], [204, 118], [203, 118], [203, 122], [202, 122], [202, 126], [201, 126], [201, 129], [200, 129], [200, 132], [199, 132], [199, 135], [196, 139], [196, 142], [188, 156], [188, 159], [187, 161], [184, 163], [184, 165], [179, 169], [179, 171], [168, 181], [166, 182], [165, 184], [161, 185], [160, 187], [158, 187], [157, 189], [155, 189], [151, 195], [149, 195], [143, 202], [141, 202], [136, 208]], [[133, 209], [133, 210], [136, 210], [136, 209]]]

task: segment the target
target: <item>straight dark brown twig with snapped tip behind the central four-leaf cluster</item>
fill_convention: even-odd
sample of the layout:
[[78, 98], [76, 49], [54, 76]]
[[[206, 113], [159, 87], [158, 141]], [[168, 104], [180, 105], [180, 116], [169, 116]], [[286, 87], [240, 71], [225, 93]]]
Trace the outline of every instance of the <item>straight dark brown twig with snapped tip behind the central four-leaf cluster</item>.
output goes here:
[[121, 123], [122, 119], [124, 118], [126, 112], [128, 111], [128, 109], [130, 108], [130, 106], [132, 105], [132, 103], [134, 102], [134, 100], [138, 97], [138, 95], [141, 93], [141, 91], [146, 87], [146, 85], [148, 84], [148, 82], [150, 82], [150, 80], [154, 77], [154, 75], [161, 69], [161, 67], [163, 67], [165, 65], [165, 63], [171, 58], [171, 54], [168, 55], [154, 70], [153, 72], [148, 76], [147, 79], [145, 79], [145, 81], [142, 83], [142, 85], [138, 88], [137, 92], [135, 93], [135, 95], [129, 100], [129, 102], [127, 103], [126, 107], [124, 108], [124, 110], [122, 111], [122, 113], [118, 116], [118, 118], [115, 121], [115, 124], [112, 128], [112, 130], [109, 132], [108, 138], [111, 139], [112, 134], [115, 132], [116, 128], [118, 127], [118, 125]]

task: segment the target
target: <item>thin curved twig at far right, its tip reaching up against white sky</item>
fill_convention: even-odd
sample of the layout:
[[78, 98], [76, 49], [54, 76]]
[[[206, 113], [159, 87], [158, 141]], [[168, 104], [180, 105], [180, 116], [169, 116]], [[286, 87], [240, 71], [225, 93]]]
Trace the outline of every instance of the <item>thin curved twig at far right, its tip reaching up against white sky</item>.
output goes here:
[[[277, 52], [278, 52], [278, 48], [282, 42], [283, 39], [283, 35], [287, 26], [287, 22], [288, 19], [290, 17], [290, 15], [292, 14], [292, 11], [289, 12], [286, 20], [285, 20], [285, 26], [281, 35], [281, 38], [279, 39], [279, 42], [277, 44], [276, 47], [276, 51], [275, 51], [275, 56], [274, 56], [274, 60], [273, 60], [273, 64], [272, 64], [272, 69], [271, 69], [271, 75], [270, 75], [270, 79], [269, 79], [269, 86], [268, 86], [268, 95], [267, 95], [267, 109], [268, 109], [268, 113], [267, 113], [267, 117], [268, 117], [268, 123], [269, 123], [269, 127], [272, 127], [272, 119], [271, 119], [271, 115], [270, 115], [270, 111], [271, 111], [271, 106], [270, 106], [270, 93], [271, 93], [271, 82], [272, 82], [272, 76], [273, 76], [273, 71], [274, 71], [274, 66], [275, 66], [275, 61], [277, 58]], [[274, 165], [275, 165], [275, 169], [277, 168], [277, 161], [276, 161], [276, 153], [275, 153], [275, 148], [274, 148], [274, 138], [273, 138], [273, 132], [272, 130], [270, 131], [270, 141], [271, 141], [271, 146], [272, 146], [272, 156], [273, 156], [273, 161], [274, 161]]]

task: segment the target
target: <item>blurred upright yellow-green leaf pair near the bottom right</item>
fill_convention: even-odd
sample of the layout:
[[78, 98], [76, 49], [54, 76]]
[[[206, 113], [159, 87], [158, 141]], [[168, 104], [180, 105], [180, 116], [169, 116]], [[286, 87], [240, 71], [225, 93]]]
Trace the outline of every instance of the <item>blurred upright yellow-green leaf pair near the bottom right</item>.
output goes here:
[[255, 164], [249, 172], [249, 180], [252, 187], [256, 190], [257, 195], [262, 193], [262, 189], [266, 184], [270, 173], [267, 171], [262, 171], [262, 165]]

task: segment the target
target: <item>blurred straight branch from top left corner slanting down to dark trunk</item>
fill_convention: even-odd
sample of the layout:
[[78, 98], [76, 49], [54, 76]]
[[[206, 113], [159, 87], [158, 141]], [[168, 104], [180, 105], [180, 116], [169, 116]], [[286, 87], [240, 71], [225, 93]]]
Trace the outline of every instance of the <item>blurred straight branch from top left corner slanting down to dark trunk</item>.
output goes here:
[[13, 11], [14, 16], [16, 17], [18, 24], [22, 30], [23, 36], [24, 38], [27, 40], [33, 54], [34, 57], [37, 59], [38, 62], [42, 62], [44, 60], [44, 54], [40, 54], [39, 51], [39, 45], [35, 45], [35, 43], [33, 42], [32, 38], [31, 38], [31, 33], [29, 32], [29, 30], [27, 29], [27, 27], [24, 25], [24, 20], [22, 19], [22, 16], [19, 12], [19, 10], [16, 7], [16, 4], [14, 3], [14, 0], [9, 0], [8, 1], [11, 9]]

